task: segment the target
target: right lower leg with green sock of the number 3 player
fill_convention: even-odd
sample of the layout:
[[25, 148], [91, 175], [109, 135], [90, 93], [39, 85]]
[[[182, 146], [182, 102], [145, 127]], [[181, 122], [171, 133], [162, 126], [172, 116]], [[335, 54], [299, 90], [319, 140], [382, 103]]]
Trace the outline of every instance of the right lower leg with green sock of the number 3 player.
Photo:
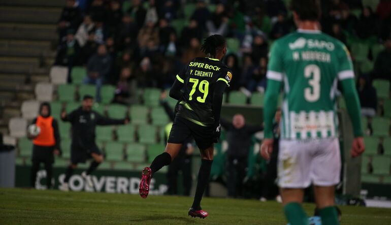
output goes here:
[[322, 219], [322, 224], [339, 224], [338, 213], [334, 207], [335, 187], [334, 186], [314, 186], [316, 208]]

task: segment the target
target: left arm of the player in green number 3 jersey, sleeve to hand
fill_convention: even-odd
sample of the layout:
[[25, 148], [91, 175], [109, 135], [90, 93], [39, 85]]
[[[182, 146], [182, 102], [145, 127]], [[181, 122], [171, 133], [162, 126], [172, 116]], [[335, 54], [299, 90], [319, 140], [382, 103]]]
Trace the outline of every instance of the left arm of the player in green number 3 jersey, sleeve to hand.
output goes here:
[[273, 118], [277, 110], [278, 94], [283, 78], [283, 53], [281, 46], [275, 42], [270, 51], [268, 72], [266, 74], [268, 86], [264, 102], [265, 140], [261, 146], [261, 154], [265, 159], [270, 158], [273, 150]]

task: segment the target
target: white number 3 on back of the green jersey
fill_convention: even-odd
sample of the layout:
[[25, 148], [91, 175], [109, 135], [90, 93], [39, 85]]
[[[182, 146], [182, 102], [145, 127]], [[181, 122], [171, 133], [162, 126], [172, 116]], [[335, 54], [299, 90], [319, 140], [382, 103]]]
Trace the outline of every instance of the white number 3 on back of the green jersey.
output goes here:
[[[304, 68], [304, 77], [311, 78], [308, 84], [312, 87], [304, 88], [304, 98], [308, 102], [316, 102], [320, 97], [320, 69], [316, 65], [308, 65]], [[312, 89], [312, 90], [311, 90]]]

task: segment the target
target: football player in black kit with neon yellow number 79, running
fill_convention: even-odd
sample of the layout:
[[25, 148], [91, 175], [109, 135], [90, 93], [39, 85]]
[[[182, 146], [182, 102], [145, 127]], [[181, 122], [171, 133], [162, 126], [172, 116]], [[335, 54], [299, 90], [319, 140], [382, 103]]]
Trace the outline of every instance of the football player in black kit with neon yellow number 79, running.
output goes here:
[[169, 165], [177, 156], [182, 143], [192, 136], [201, 152], [196, 196], [188, 215], [205, 218], [201, 199], [209, 181], [213, 162], [213, 143], [220, 137], [220, 111], [225, 87], [229, 86], [232, 72], [221, 59], [226, 54], [226, 41], [220, 35], [204, 40], [201, 50], [207, 57], [191, 60], [176, 76], [170, 97], [179, 101], [165, 152], [156, 156], [150, 167], [143, 169], [140, 196], [147, 198], [152, 175]]

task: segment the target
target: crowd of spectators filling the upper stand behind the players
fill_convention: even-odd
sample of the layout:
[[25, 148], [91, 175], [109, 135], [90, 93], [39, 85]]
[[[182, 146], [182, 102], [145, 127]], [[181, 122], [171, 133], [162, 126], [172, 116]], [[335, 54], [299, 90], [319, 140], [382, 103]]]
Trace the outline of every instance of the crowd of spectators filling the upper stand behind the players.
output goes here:
[[[204, 56], [202, 38], [220, 34], [229, 40], [229, 54], [223, 60], [234, 72], [230, 90], [263, 92], [271, 43], [296, 29], [287, 2], [67, 0], [58, 20], [55, 63], [70, 69], [85, 66], [84, 83], [115, 85], [121, 97], [115, 100], [131, 104], [136, 88], [169, 88], [189, 60]], [[372, 80], [391, 80], [391, 0], [380, 0], [377, 6], [363, 2], [321, 1], [320, 21], [324, 33], [352, 51], [354, 43], [384, 44], [377, 57], [372, 48], [366, 52], [364, 59], [374, 63], [370, 71], [362, 71], [364, 62], [352, 54], [359, 68], [361, 104], [376, 111]]]

